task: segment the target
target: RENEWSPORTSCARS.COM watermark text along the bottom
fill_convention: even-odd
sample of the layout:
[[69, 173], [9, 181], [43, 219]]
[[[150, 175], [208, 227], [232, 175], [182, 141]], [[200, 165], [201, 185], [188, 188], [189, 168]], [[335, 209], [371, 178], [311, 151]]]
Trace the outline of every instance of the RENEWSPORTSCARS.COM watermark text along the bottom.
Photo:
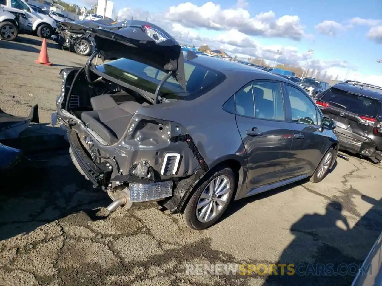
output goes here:
[[355, 276], [372, 274], [371, 265], [360, 264], [186, 264], [186, 275], [298, 275]]

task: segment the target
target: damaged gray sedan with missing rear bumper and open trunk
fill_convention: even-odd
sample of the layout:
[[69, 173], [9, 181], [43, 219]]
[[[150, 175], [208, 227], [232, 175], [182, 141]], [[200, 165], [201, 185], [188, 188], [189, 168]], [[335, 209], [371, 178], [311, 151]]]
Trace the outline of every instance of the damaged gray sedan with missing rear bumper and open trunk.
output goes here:
[[232, 199], [319, 182], [332, 168], [335, 125], [293, 82], [183, 54], [143, 21], [91, 36], [87, 64], [61, 71], [52, 124], [68, 131], [74, 165], [107, 192], [110, 211], [157, 201], [201, 230]]

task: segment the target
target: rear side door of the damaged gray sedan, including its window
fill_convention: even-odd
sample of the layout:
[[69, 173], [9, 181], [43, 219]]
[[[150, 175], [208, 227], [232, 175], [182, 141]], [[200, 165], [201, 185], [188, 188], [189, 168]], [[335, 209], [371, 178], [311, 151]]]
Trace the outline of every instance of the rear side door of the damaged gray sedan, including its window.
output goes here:
[[254, 81], [235, 94], [236, 123], [248, 157], [247, 188], [277, 182], [293, 134], [286, 127], [279, 82]]

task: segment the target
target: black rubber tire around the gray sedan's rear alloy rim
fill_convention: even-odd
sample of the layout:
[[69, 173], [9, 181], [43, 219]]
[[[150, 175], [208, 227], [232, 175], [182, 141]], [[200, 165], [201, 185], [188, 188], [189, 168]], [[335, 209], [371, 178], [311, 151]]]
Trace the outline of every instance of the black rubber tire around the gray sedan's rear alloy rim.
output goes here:
[[[207, 222], [201, 222], [197, 218], [197, 204], [199, 202], [199, 199], [201, 197], [202, 192], [207, 188], [209, 183], [217, 179], [219, 176], [225, 176], [228, 179], [228, 182], [230, 184], [230, 190], [228, 193], [228, 196], [225, 196], [225, 204], [220, 209], [219, 213], [212, 219]], [[196, 190], [193, 190], [191, 192], [192, 196], [188, 200], [185, 208], [178, 214], [179, 219], [189, 228], [193, 230], [204, 230], [206, 228], [209, 228], [212, 226], [217, 220], [220, 219], [222, 214], [227, 209], [228, 205], [230, 204], [231, 198], [233, 196], [233, 193], [235, 193], [235, 174], [233, 173], [232, 169], [228, 167], [222, 167], [222, 169], [218, 169], [214, 174], [210, 175], [209, 177], [202, 178], [202, 181], [198, 184], [198, 187]], [[212, 196], [214, 197], [214, 196]], [[209, 204], [216, 206], [218, 205], [215, 198], [211, 198], [210, 203], [205, 204], [205, 206], [208, 206]], [[202, 208], [201, 208], [202, 209]]]

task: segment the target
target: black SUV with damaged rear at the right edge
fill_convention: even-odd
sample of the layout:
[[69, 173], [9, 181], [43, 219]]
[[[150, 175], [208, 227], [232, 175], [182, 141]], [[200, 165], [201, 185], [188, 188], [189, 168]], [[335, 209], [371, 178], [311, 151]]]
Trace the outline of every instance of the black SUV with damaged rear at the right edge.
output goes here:
[[382, 87], [346, 80], [319, 95], [317, 106], [336, 122], [340, 148], [382, 160]]

